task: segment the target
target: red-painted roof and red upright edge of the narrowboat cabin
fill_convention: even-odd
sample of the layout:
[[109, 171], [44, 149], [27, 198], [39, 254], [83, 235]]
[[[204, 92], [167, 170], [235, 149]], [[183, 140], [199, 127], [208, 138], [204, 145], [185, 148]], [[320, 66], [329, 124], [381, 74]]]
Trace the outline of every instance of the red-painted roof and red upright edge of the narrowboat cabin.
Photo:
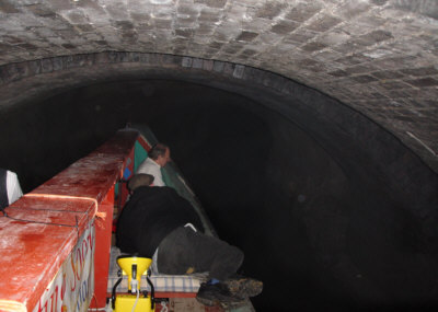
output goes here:
[[[7, 302], [32, 311], [95, 216], [104, 217], [96, 219], [96, 277], [107, 274], [114, 184], [137, 137], [135, 131], [118, 131], [5, 209], [10, 218], [0, 217], [0, 310]], [[102, 284], [103, 294], [101, 281], [95, 284], [97, 302], [106, 296], [106, 275]]]

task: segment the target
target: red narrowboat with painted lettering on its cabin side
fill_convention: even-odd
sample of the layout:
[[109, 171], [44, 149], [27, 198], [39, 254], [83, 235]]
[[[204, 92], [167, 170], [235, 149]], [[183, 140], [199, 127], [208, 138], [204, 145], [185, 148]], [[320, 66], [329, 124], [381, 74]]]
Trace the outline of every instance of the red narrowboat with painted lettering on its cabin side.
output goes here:
[[[131, 277], [120, 276], [126, 271], [117, 264], [120, 252], [115, 246], [114, 220], [128, 198], [126, 181], [155, 142], [146, 126], [118, 130], [3, 210], [0, 311], [113, 311], [117, 298], [129, 292]], [[163, 177], [192, 203], [206, 232], [216, 235], [174, 163], [163, 169]], [[135, 278], [154, 311], [254, 311], [250, 300], [230, 309], [198, 303], [195, 297], [203, 274], [148, 276], [148, 271]], [[117, 309], [123, 311], [150, 310]]]

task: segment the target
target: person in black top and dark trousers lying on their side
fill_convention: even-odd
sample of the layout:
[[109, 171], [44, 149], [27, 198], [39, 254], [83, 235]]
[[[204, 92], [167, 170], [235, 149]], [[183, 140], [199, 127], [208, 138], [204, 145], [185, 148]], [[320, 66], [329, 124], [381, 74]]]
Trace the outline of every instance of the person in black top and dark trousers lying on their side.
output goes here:
[[152, 271], [160, 274], [208, 271], [208, 281], [200, 285], [196, 297], [206, 305], [234, 305], [258, 294], [261, 281], [235, 275], [242, 251], [204, 234], [193, 206], [171, 187], [150, 187], [152, 182], [150, 174], [136, 174], [128, 181], [131, 196], [116, 231], [120, 251], [152, 258]]

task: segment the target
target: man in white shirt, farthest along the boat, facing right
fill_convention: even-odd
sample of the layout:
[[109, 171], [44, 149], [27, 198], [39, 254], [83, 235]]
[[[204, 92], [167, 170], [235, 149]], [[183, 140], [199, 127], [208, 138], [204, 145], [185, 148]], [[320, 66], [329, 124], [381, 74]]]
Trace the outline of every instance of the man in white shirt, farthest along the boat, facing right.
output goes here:
[[171, 160], [171, 150], [166, 145], [157, 143], [149, 151], [149, 157], [138, 166], [136, 173], [151, 174], [154, 177], [153, 186], [165, 186], [161, 167]]

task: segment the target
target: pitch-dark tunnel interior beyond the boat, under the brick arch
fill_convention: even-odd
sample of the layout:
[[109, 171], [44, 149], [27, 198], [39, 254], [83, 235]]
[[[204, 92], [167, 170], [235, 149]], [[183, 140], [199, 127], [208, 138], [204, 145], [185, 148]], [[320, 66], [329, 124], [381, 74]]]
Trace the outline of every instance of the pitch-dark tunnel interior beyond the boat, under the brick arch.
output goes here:
[[[306, 111], [299, 118], [326, 127]], [[330, 128], [315, 137], [268, 105], [175, 80], [82, 86], [0, 119], [0, 163], [24, 192], [127, 123], [148, 124], [219, 236], [244, 251], [243, 274], [264, 281], [257, 311], [438, 308], [437, 174], [383, 129], [373, 136], [392, 154], [377, 164], [369, 153], [388, 150], [367, 140]], [[406, 171], [380, 175], [395, 161]]]

